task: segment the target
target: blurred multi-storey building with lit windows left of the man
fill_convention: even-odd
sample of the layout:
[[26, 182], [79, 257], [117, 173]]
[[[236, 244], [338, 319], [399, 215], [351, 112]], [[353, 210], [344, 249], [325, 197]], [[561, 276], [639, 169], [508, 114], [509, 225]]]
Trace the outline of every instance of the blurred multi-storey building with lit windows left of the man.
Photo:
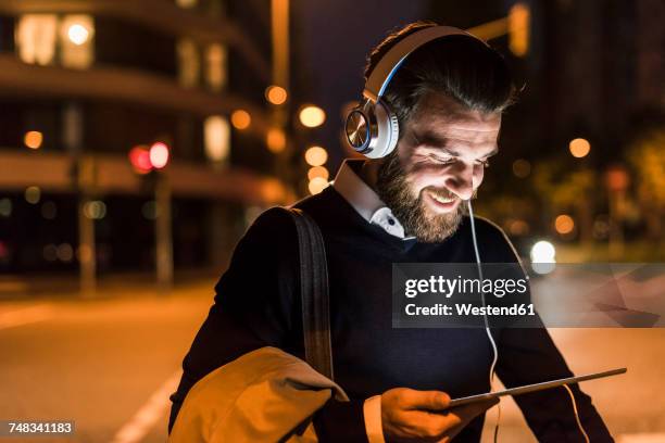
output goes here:
[[0, 273], [75, 270], [81, 201], [98, 271], [153, 269], [155, 177], [128, 153], [155, 142], [176, 268], [223, 263], [287, 192], [265, 145], [268, 7], [0, 1]]

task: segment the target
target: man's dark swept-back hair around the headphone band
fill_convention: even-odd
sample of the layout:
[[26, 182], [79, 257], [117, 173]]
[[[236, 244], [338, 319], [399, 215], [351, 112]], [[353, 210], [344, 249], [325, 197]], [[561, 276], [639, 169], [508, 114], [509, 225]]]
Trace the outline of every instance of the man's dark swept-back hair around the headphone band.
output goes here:
[[[418, 29], [438, 26], [416, 22], [391, 33], [367, 58], [365, 80], [381, 56], [397, 42]], [[400, 125], [415, 111], [426, 92], [441, 92], [484, 113], [502, 112], [514, 102], [515, 86], [503, 58], [481, 41], [467, 36], [432, 40], [413, 51], [397, 71], [382, 100]]]

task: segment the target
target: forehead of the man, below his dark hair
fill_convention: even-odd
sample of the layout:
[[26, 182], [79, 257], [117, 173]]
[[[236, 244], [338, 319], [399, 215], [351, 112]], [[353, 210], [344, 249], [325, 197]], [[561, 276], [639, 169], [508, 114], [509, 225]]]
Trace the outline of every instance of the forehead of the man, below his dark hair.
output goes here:
[[494, 139], [501, 128], [501, 113], [469, 110], [444, 94], [427, 92], [407, 123], [409, 129], [436, 132], [448, 138]]

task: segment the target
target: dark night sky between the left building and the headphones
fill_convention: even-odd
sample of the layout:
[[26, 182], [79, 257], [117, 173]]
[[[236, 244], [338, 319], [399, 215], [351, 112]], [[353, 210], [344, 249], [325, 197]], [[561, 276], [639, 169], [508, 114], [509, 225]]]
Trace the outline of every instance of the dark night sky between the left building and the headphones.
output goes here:
[[[292, 73], [291, 81], [308, 81], [306, 100], [324, 107], [328, 118], [315, 134], [330, 153], [335, 174], [343, 157], [339, 147], [342, 105], [360, 100], [363, 67], [369, 50], [386, 34], [411, 22], [427, 18], [424, 0], [294, 1], [293, 40], [302, 51], [303, 73]], [[303, 98], [304, 99], [304, 98]]]

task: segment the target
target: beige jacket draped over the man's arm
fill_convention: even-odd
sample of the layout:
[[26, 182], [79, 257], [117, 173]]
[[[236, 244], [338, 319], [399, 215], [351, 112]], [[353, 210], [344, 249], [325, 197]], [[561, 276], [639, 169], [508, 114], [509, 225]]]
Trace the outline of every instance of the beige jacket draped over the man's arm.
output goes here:
[[331, 395], [349, 400], [305, 362], [262, 347], [192, 387], [168, 442], [315, 442], [312, 416]]

